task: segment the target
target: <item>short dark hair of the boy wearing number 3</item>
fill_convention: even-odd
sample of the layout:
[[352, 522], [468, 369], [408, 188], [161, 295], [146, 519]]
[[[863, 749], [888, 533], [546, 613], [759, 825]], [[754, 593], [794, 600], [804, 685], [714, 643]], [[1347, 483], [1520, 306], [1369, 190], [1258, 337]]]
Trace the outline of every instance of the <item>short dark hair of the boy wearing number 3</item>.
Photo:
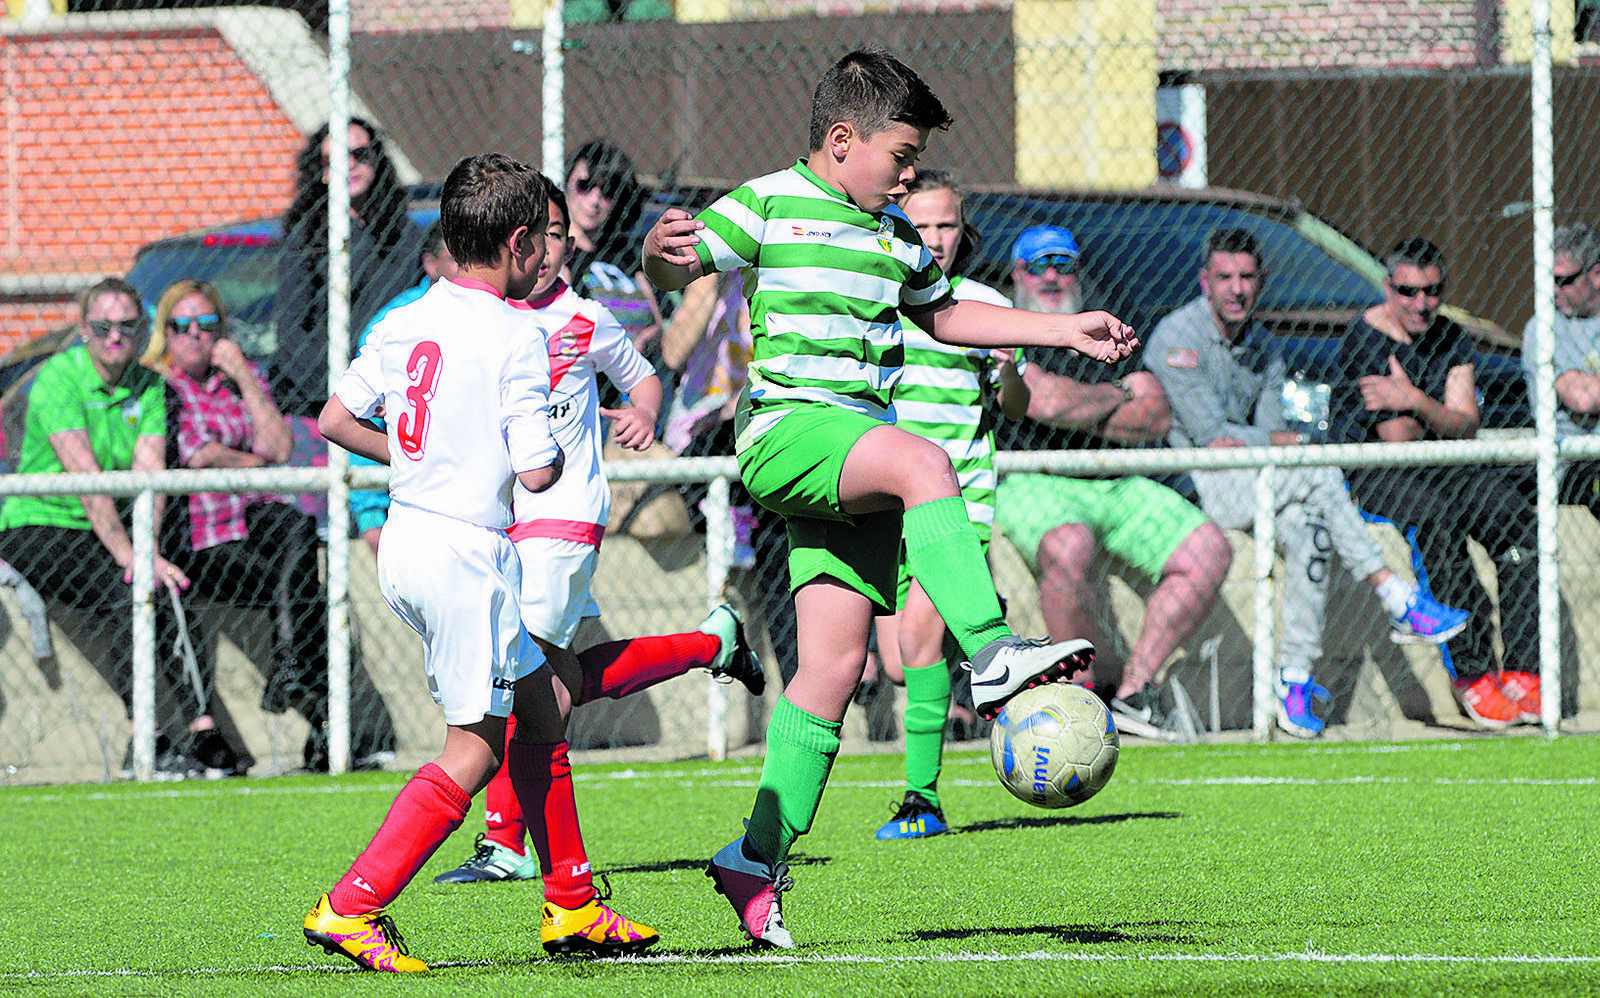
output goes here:
[[467, 157], [451, 166], [438, 195], [438, 224], [462, 267], [494, 265], [506, 238], [526, 226], [544, 234], [549, 181], [504, 152]]

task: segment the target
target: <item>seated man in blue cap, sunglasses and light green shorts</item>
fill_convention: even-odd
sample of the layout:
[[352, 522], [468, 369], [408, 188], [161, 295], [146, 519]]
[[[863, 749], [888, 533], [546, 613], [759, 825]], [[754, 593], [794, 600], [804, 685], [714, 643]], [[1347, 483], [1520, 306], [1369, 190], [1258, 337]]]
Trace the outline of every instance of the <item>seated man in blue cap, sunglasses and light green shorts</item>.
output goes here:
[[[1027, 229], [1011, 257], [1018, 307], [1083, 309], [1080, 251], [1070, 230]], [[1138, 352], [1102, 365], [1070, 350], [1030, 349], [1019, 366], [1030, 392], [1027, 419], [997, 429], [1002, 448], [1099, 449], [1155, 443], [1166, 433], [1166, 397], [1141, 369]], [[1107, 555], [1155, 584], [1110, 704], [1122, 731], [1165, 737], [1155, 677], [1216, 601], [1234, 558], [1227, 536], [1192, 502], [1138, 475], [1006, 475], [995, 494], [995, 525], [1038, 573], [1038, 608], [1054, 640], [1082, 637], [1096, 648], [1109, 646], [1101, 640], [1110, 608]], [[1090, 685], [1093, 678], [1077, 681]]]

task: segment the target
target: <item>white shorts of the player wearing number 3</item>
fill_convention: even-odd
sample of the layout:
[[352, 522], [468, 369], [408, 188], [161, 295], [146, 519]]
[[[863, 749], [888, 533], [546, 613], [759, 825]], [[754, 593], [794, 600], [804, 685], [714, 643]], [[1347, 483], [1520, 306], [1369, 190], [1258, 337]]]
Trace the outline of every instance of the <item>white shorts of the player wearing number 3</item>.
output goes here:
[[517, 680], [544, 653], [522, 627], [522, 565], [502, 531], [397, 502], [378, 549], [378, 585], [422, 635], [427, 688], [445, 723], [510, 717]]

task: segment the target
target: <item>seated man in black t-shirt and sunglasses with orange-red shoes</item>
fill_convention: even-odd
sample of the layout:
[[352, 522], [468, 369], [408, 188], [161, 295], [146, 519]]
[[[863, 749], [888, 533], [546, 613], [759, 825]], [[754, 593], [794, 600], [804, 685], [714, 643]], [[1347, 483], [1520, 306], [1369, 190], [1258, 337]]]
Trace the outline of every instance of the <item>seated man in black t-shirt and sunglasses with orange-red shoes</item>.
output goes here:
[[[1469, 440], [1478, 432], [1472, 337], [1440, 315], [1445, 254], [1406, 238], [1384, 256], [1384, 301], [1350, 321], [1339, 349], [1334, 425], [1350, 443]], [[1539, 720], [1538, 520], [1517, 473], [1498, 465], [1368, 467], [1350, 491], [1416, 545], [1434, 593], [1472, 609], [1443, 662], [1461, 710], [1485, 728]], [[1496, 661], [1493, 603], [1467, 539], [1499, 576], [1504, 662]]]

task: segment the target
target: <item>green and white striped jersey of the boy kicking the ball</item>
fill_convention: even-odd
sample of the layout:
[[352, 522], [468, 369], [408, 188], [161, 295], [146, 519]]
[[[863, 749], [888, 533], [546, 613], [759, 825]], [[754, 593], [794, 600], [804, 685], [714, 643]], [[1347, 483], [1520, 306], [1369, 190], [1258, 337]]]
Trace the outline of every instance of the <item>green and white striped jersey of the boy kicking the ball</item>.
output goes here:
[[741, 449], [800, 405], [894, 422], [906, 355], [899, 313], [950, 293], [906, 214], [894, 205], [862, 211], [802, 160], [698, 218], [706, 222], [694, 248], [701, 265], [746, 272], [754, 357]]

